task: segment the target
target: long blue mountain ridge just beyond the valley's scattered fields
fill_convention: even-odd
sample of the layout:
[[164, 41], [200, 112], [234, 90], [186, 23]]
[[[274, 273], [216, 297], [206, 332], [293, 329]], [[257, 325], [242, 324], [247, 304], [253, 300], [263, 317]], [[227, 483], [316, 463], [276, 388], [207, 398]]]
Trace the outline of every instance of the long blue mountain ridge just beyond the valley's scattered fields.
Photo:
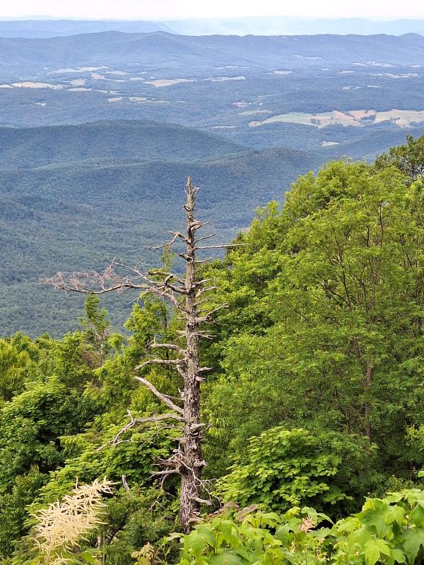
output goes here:
[[1, 38], [0, 72], [54, 71], [73, 66], [124, 65], [128, 69], [196, 73], [209, 69], [248, 66], [300, 69], [355, 61], [423, 64], [424, 37], [390, 35], [189, 37], [167, 32], [116, 31], [52, 37]]

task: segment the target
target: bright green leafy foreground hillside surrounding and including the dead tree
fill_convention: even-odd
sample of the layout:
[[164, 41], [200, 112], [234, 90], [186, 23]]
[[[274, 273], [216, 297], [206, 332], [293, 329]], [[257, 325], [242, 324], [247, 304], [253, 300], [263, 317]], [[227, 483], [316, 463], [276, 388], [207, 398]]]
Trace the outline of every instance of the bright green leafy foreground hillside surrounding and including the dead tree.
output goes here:
[[[47, 283], [89, 293], [79, 329], [0, 340], [0, 563], [418, 565], [423, 170], [424, 137], [329, 162], [213, 261], [188, 183], [187, 225], [183, 194], [160, 203], [180, 256], [65, 261]], [[110, 287], [134, 292], [125, 334]]]

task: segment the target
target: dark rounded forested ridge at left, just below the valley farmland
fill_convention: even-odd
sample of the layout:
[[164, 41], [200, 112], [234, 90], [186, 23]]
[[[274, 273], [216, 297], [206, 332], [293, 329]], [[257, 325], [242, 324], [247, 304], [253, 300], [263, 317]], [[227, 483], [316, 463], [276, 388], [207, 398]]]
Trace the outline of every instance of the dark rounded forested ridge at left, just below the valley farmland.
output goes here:
[[37, 128], [0, 127], [0, 168], [87, 159], [197, 160], [246, 150], [212, 133], [154, 121], [98, 121]]

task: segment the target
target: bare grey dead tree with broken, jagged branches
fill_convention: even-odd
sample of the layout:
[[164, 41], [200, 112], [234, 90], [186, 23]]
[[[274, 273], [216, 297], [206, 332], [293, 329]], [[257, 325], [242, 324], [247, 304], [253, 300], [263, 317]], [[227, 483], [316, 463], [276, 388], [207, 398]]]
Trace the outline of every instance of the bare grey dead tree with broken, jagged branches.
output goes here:
[[[72, 273], [65, 275], [57, 273], [53, 278], [45, 280], [56, 288], [73, 292], [85, 292], [102, 294], [117, 290], [123, 292], [126, 289], [140, 289], [150, 294], [163, 297], [172, 304], [184, 320], [184, 330], [180, 331], [182, 347], [175, 343], [151, 343], [150, 350], [168, 350], [172, 352], [172, 358], [163, 359], [151, 357], [136, 367], [136, 373], [148, 365], [158, 364], [173, 367], [178, 371], [184, 382], [184, 388], [180, 391], [180, 398], [168, 396], [158, 391], [148, 379], [136, 374], [137, 381], [146, 386], [157, 398], [159, 398], [170, 412], [147, 418], [134, 418], [130, 414], [130, 422], [112, 441], [119, 443], [123, 434], [132, 427], [147, 422], [177, 422], [182, 427], [182, 433], [177, 448], [170, 458], [160, 460], [162, 469], [153, 473], [163, 480], [169, 475], [177, 474], [181, 477], [179, 521], [184, 532], [192, 528], [192, 524], [199, 516], [200, 505], [207, 503], [201, 499], [203, 483], [201, 474], [206, 462], [201, 453], [202, 434], [204, 424], [200, 418], [201, 383], [208, 367], [201, 367], [200, 363], [200, 341], [202, 338], [211, 338], [205, 333], [205, 327], [213, 320], [216, 311], [225, 308], [225, 304], [211, 311], [204, 311], [202, 305], [205, 303], [205, 295], [213, 290], [211, 280], [200, 279], [199, 264], [206, 260], [197, 258], [199, 251], [205, 249], [218, 249], [232, 247], [232, 245], [199, 245], [205, 239], [213, 237], [196, 237], [197, 232], [208, 224], [201, 222], [194, 216], [196, 194], [198, 189], [192, 185], [190, 177], [185, 187], [187, 230], [182, 232], [171, 232], [172, 239], [163, 246], [153, 249], [170, 249], [176, 242], [184, 244], [184, 251], [179, 253], [185, 261], [185, 273], [182, 277], [165, 270], [149, 270], [144, 273], [138, 266], [128, 268], [119, 261], [113, 261], [103, 273]], [[121, 275], [117, 269], [126, 268], [127, 275]], [[168, 356], [170, 357], [170, 356]]]

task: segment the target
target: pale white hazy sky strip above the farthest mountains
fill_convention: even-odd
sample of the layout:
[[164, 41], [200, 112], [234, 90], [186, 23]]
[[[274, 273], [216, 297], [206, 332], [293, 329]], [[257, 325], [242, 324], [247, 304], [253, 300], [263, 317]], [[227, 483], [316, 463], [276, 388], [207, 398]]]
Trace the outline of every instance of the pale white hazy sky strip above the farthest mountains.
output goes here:
[[420, 0], [0, 0], [0, 18], [175, 19], [235, 16], [422, 18]]

